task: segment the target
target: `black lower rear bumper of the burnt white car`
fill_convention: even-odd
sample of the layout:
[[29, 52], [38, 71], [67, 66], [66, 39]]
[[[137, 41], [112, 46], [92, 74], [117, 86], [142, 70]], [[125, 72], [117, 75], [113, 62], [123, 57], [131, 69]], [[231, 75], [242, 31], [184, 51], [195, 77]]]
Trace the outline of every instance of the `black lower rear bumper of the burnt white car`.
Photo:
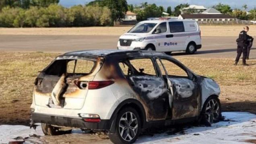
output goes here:
[[34, 123], [47, 123], [58, 126], [84, 128], [88, 130], [109, 130], [111, 127], [109, 119], [101, 119], [100, 122], [85, 122], [81, 117], [62, 117], [41, 113], [32, 113], [31, 115], [31, 125]]

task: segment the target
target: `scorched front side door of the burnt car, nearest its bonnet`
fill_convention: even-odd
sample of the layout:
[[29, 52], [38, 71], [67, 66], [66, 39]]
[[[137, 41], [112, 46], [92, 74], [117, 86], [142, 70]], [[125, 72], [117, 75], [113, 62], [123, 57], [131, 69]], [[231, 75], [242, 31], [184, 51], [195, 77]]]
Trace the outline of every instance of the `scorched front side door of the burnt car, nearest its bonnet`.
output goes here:
[[[200, 113], [199, 87], [194, 75], [180, 62], [169, 58], [159, 59], [162, 74], [167, 79], [170, 95], [171, 119], [184, 119]], [[159, 66], [160, 67], [160, 66]]]

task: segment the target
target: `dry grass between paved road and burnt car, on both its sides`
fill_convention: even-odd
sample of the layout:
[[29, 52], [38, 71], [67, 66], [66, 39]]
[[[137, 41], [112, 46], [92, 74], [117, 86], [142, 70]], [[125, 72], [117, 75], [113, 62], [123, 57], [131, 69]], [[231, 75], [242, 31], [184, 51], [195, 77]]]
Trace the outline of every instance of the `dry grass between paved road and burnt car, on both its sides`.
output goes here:
[[[0, 52], [0, 124], [28, 124], [33, 82], [38, 71], [58, 53]], [[256, 60], [251, 66], [233, 66], [232, 59], [175, 57], [195, 73], [215, 79], [221, 86], [226, 111], [256, 113]]]

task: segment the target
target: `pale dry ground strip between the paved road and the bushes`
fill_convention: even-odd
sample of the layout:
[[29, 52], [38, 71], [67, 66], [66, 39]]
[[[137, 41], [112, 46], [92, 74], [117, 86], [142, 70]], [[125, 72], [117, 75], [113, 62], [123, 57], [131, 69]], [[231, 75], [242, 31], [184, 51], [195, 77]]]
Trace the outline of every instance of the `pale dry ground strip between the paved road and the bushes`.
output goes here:
[[[202, 36], [237, 36], [244, 25], [202, 25]], [[131, 27], [0, 28], [0, 35], [122, 35]], [[256, 36], [250, 25], [249, 35]]]

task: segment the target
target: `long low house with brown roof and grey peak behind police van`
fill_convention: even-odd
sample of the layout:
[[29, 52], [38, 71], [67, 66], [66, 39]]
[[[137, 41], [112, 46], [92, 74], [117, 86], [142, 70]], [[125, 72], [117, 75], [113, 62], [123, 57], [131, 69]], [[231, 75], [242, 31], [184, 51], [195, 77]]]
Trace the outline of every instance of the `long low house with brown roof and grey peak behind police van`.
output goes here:
[[198, 23], [229, 23], [237, 19], [229, 14], [222, 14], [214, 8], [208, 8], [197, 14], [180, 14], [178, 19], [192, 19]]

